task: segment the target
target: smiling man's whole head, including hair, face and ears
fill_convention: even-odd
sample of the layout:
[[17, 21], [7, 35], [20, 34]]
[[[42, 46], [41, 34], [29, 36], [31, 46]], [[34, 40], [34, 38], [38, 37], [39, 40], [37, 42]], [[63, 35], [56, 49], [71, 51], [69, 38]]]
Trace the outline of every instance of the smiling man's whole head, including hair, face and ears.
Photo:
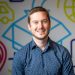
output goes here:
[[43, 7], [32, 8], [28, 17], [28, 28], [33, 38], [43, 40], [48, 37], [50, 30], [50, 18], [48, 11]]

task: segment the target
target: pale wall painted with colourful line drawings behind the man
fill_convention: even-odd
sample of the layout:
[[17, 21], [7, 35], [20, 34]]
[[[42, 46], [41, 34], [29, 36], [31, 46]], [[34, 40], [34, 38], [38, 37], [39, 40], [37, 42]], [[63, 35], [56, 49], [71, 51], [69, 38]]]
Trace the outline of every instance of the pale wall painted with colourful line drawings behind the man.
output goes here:
[[75, 0], [0, 0], [0, 75], [11, 75], [15, 52], [32, 39], [27, 17], [35, 6], [49, 11], [49, 36], [69, 50], [75, 70]]

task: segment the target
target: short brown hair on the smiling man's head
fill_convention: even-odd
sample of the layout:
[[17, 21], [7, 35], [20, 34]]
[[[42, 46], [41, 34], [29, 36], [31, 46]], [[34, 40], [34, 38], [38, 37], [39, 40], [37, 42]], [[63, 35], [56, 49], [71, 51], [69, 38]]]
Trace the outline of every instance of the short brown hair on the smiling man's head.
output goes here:
[[41, 7], [41, 6], [38, 6], [38, 7], [32, 8], [32, 9], [30, 10], [29, 16], [28, 16], [28, 23], [30, 23], [30, 15], [33, 14], [33, 13], [35, 13], [35, 12], [39, 12], [39, 11], [46, 12], [46, 14], [47, 14], [47, 16], [48, 16], [48, 19], [49, 19], [49, 21], [50, 21], [50, 17], [49, 17], [48, 11], [47, 11], [45, 8]]

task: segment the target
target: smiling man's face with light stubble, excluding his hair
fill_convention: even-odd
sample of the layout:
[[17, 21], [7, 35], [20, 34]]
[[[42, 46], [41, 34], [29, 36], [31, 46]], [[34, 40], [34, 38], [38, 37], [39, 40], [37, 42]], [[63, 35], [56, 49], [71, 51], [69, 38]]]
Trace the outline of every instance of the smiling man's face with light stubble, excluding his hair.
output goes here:
[[42, 40], [48, 37], [50, 21], [47, 14], [41, 11], [31, 14], [28, 28], [36, 39]]

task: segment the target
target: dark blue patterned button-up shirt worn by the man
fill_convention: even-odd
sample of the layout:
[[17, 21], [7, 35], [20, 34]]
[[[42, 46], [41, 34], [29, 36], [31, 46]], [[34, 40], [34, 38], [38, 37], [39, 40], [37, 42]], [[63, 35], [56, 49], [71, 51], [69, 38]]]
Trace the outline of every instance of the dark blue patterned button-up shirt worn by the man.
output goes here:
[[15, 54], [12, 75], [74, 75], [66, 48], [48, 40], [42, 51], [32, 40]]

